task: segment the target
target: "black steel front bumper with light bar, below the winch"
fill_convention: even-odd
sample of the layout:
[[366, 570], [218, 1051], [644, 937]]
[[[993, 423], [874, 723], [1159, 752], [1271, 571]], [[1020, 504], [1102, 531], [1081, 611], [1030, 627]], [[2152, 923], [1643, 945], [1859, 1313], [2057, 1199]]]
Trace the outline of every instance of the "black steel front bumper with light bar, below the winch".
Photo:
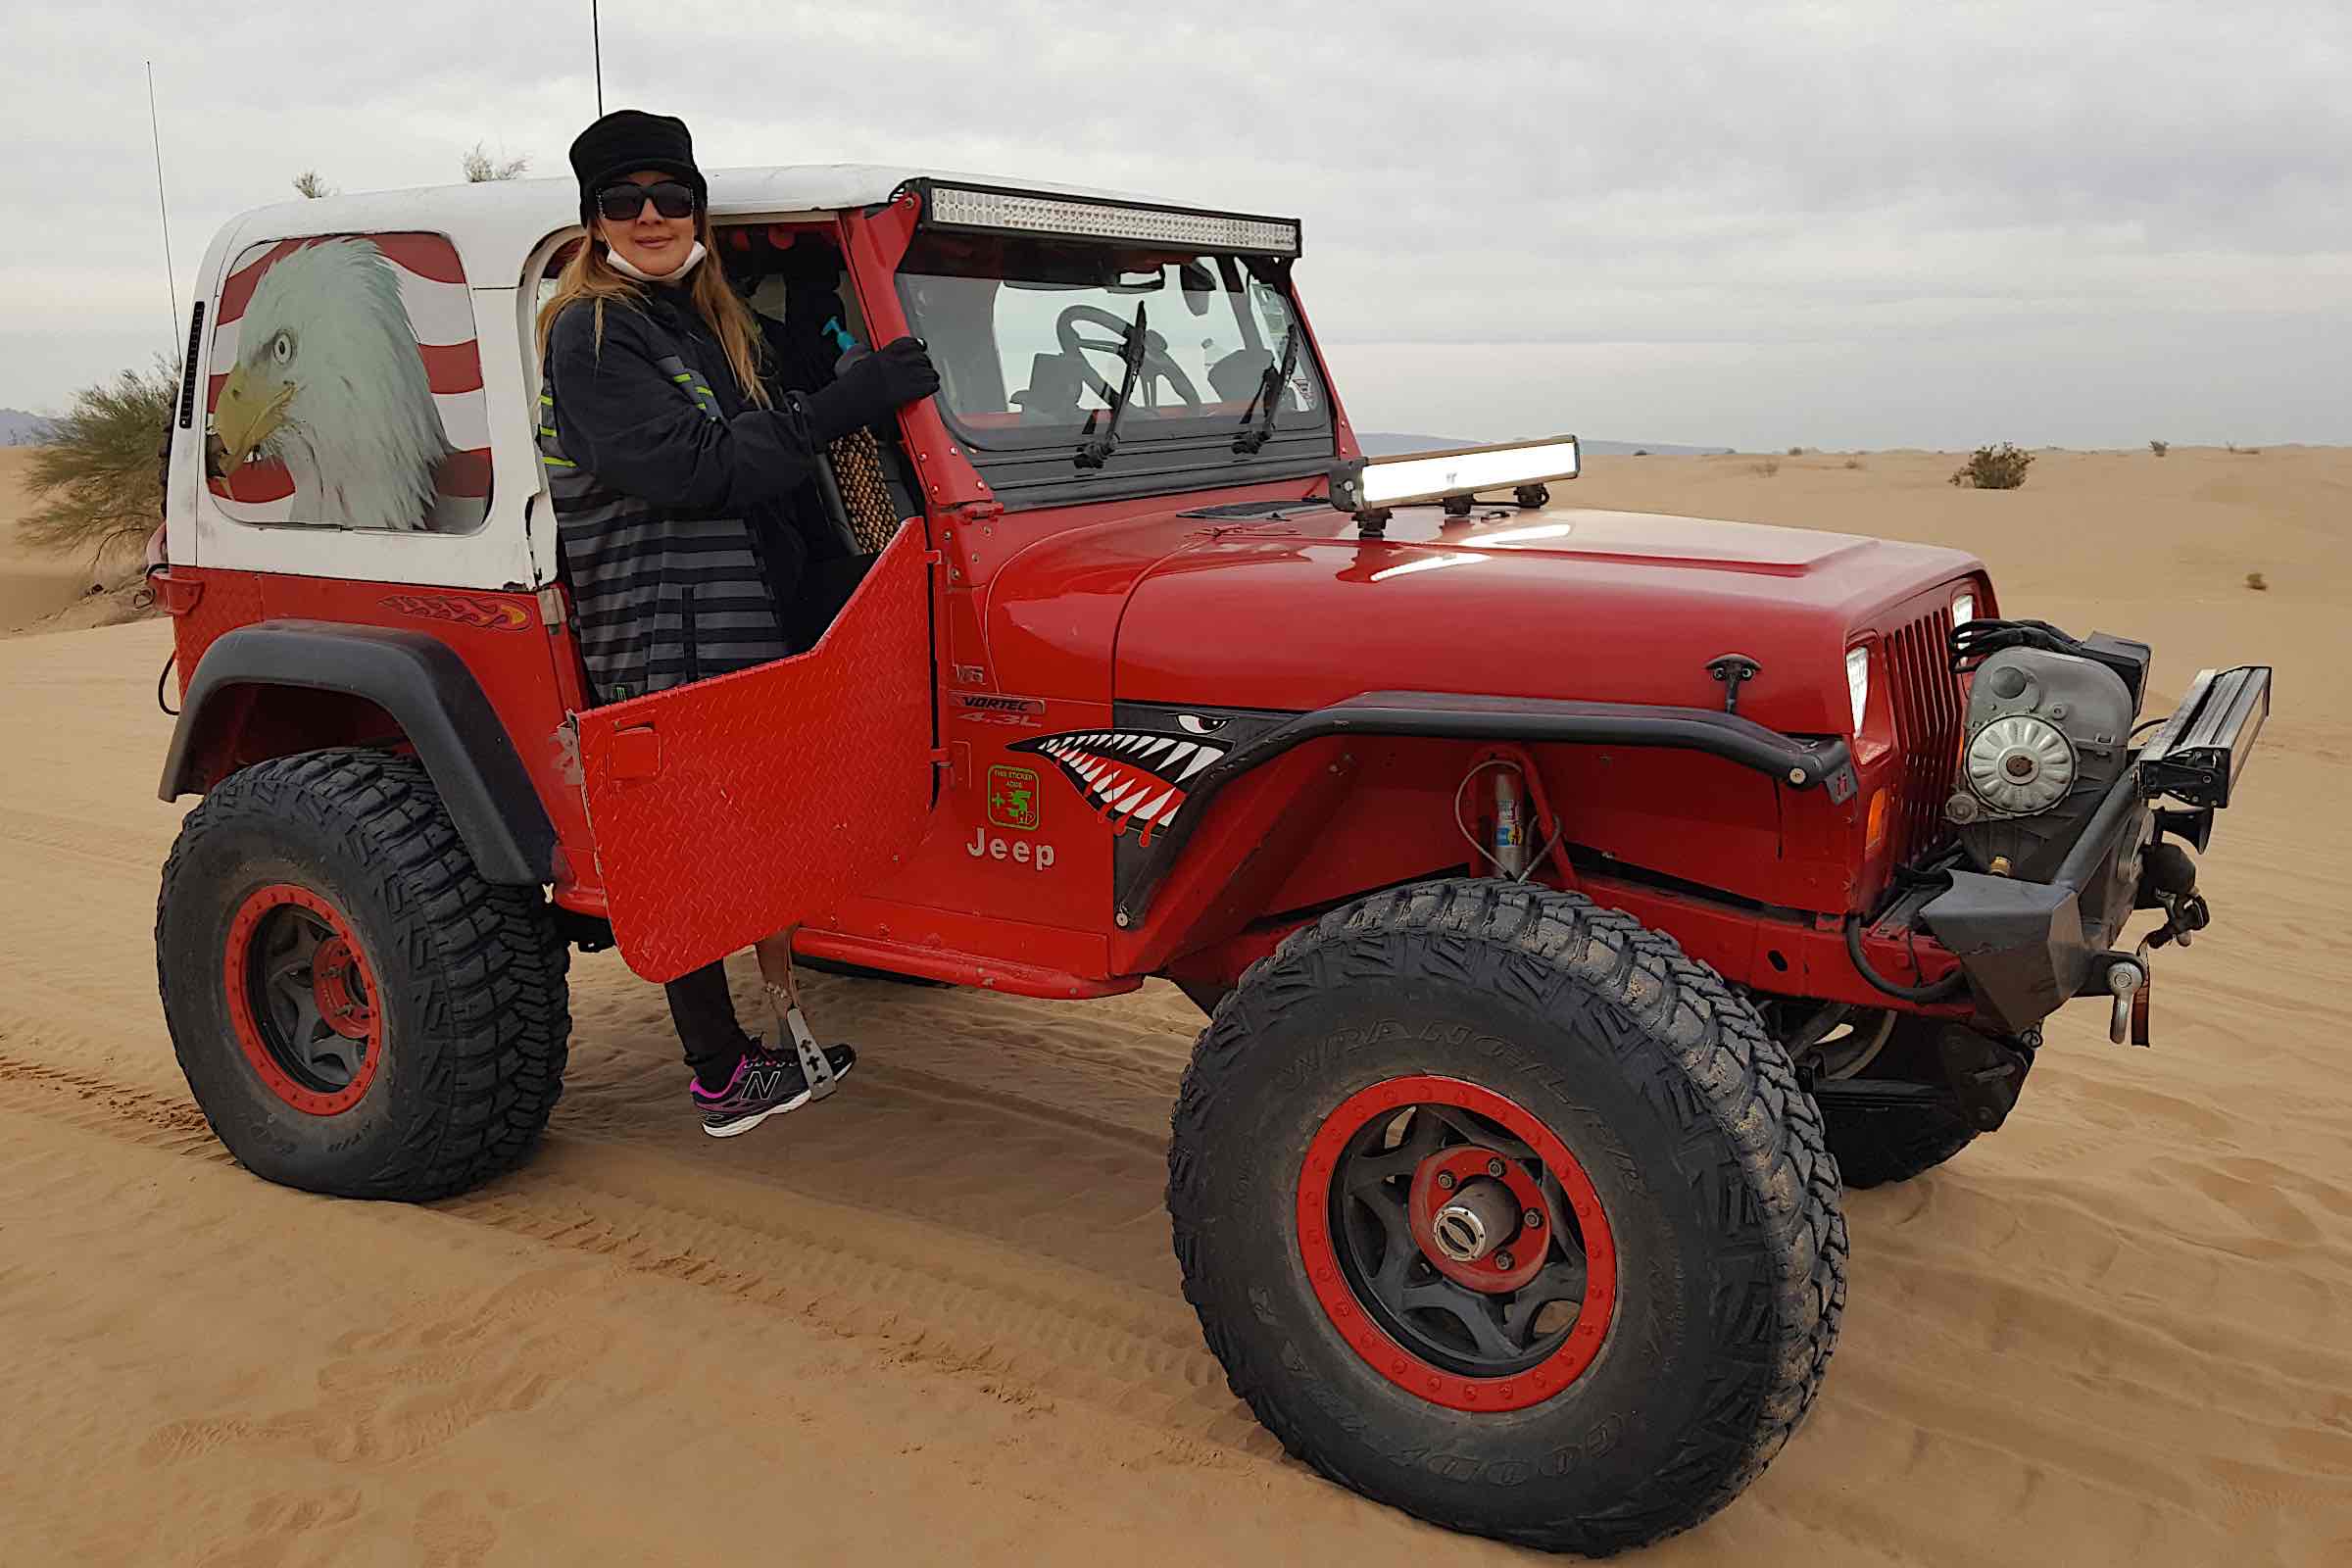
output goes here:
[[[2267, 717], [2270, 665], [2206, 670], [2133, 752], [2056, 877], [1952, 872], [1919, 919], [1959, 959], [1978, 1013], [2023, 1034], [2070, 997], [2107, 990], [2110, 945], [2133, 910], [2157, 907], [2143, 893], [2140, 851], [2166, 832], [2206, 846]], [[2187, 809], [2157, 809], [2161, 797]]]

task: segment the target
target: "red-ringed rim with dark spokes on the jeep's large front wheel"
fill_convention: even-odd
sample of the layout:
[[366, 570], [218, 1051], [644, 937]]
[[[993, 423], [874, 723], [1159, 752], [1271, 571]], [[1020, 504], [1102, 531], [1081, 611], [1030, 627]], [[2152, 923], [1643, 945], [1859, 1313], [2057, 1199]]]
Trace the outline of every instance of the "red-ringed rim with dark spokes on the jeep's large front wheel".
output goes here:
[[1298, 1171], [1298, 1248], [1355, 1354], [1451, 1410], [1552, 1399], [1616, 1305], [1585, 1168], [1526, 1107], [1451, 1077], [1392, 1077], [1324, 1119]]

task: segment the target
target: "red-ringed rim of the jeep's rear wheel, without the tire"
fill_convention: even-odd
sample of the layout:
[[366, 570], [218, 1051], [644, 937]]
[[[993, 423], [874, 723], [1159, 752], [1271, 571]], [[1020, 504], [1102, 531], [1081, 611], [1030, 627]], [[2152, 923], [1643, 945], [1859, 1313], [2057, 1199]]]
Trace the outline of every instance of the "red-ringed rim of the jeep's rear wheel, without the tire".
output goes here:
[[221, 954], [228, 1023], [254, 1074], [280, 1100], [336, 1117], [367, 1095], [383, 1063], [376, 978], [350, 922], [310, 889], [254, 889]]

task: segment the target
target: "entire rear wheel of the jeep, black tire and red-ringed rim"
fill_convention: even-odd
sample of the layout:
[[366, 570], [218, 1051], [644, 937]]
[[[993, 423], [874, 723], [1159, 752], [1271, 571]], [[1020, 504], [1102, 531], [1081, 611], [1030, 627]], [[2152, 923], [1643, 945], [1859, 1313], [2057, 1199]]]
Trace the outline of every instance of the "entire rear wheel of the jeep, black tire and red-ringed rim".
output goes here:
[[155, 905], [212, 1131], [336, 1197], [449, 1197], [529, 1154], [562, 1093], [567, 964], [541, 891], [482, 882], [423, 766], [372, 750], [230, 773]]

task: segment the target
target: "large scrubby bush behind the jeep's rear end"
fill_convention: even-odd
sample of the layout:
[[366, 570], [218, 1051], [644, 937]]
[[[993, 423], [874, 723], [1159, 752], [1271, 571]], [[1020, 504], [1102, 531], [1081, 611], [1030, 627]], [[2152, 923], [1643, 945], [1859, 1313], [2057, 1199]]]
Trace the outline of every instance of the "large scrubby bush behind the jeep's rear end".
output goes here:
[[96, 559], [153, 534], [162, 520], [160, 447], [176, 400], [169, 360], [75, 393], [26, 468], [26, 489], [42, 501], [16, 536], [35, 550], [89, 550]]

